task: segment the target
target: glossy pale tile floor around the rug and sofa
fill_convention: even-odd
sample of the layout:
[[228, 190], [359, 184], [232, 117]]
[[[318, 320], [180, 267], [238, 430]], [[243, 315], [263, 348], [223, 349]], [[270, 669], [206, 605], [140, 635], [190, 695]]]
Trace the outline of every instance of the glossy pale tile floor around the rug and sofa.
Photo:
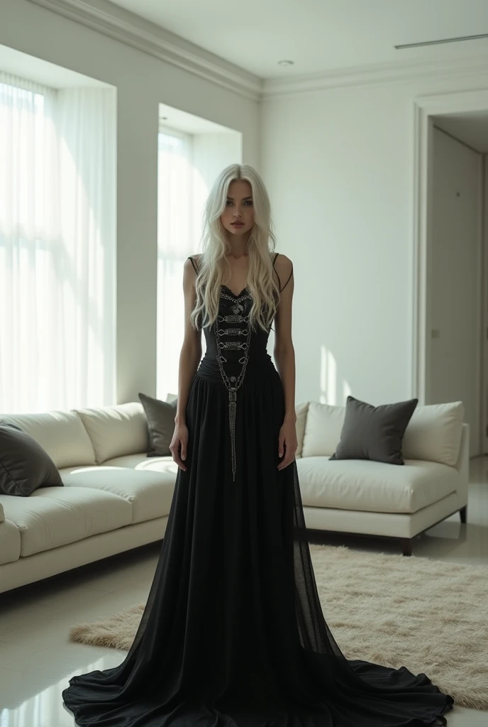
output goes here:
[[[398, 552], [381, 539], [344, 537], [342, 542], [369, 552]], [[0, 727], [74, 726], [61, 699], [70, 676], [113, 667], [126, 652], [71, 643], [68, 630], [145, 601], [159, 551], [159, 544], [151, 545], [0, 594]], [[468, 523], [461, 525], [453, 515], [415, 539], [413, 552], [488, 563], [488, 458], [471, 464]], [[461, 707], [447, 718], [449, 727], [488, 724], [488, 712]]]

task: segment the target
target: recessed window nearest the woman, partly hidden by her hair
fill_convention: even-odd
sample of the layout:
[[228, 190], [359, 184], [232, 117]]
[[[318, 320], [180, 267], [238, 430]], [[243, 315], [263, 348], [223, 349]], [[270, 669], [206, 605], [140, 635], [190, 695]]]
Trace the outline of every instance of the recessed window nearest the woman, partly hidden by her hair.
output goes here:
[[[174, 108], [161, 108], [158, 134], [157, 395], [178, 391], [184, 335], [183, 265], [201, 252], [203, 208], [217, 174], [240, 162], [239, 132]], [[168, 126], [173, 121], [175, 126]], [[185, 129], [183, 131], [182, 129]], [[205, 353], [205, 339], [202, 337]]]

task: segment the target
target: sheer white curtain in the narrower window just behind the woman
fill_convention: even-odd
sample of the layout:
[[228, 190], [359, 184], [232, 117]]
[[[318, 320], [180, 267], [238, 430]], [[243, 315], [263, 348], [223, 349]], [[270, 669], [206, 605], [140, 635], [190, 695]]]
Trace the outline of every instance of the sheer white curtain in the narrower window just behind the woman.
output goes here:
[[157, 396], [178, 391], [183, 343], [184, 260], [196, 252], [192, 137], [160, 129], [158, 134], [158, 342]]

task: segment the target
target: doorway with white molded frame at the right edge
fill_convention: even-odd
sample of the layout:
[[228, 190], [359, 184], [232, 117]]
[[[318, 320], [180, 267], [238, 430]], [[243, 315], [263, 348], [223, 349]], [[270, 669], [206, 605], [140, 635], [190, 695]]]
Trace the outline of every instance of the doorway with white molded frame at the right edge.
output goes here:
[[412, 385], [420, 403], [463, 401], [476, 457], [488, 453], [488, 92], [415, 112]]

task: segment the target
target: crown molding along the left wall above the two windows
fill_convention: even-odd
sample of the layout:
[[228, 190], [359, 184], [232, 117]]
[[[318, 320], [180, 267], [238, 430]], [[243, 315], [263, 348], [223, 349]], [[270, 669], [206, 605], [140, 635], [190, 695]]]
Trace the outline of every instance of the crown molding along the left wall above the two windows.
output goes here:
[[259, 100], [258, 76], [105, 0], [29, 0], [241, 96]]

